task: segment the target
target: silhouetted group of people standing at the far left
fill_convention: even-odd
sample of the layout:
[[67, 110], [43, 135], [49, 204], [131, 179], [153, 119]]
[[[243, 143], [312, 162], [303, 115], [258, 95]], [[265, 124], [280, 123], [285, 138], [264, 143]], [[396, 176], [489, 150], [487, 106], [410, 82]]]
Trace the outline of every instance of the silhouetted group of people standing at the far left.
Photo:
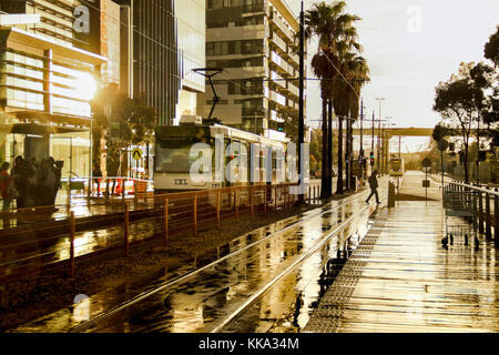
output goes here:
[[0, 168], [3, 210], [9, 210], [14, 199], [18, 209], [55, 204], [61, 187], [62, 162], [55, 162], [53, 158], [37, 162], [35, 159], [24, 160], [17, 156], [10, 174], [9, 169], [8, 162]]

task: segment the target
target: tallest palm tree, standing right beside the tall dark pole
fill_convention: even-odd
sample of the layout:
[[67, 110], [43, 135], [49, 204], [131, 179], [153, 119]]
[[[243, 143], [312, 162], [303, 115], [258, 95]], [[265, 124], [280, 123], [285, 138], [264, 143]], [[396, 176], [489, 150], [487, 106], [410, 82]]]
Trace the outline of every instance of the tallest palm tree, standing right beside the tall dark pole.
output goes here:
[[[305, 14], [305, 37], [310, 39], [317, 36], [319, 45], [317, 53], [312, 60], [314, 73], [320, 79], [320, 94], [323, 100], [323, 189], [322, 197], [332, 195], [332, 152], [333, 152], [333, 106], [334, 97], [332, 92], [333, 82], [337, 75], [338, 58], [340, 58], [346, 49], [359, 49], [359, 44], [355, 41], [357, 37], [353, 22], [359, 20], [358, 17], [344, 13], [346, 8], [345, 1], [335, 1], [332, 4], [326, 2], [315, 3], [312, 10]], [[336, 70], [335, 70], [336, 68]], [[328, 110], [329, 109], [329, 110]], [[328, 122], [327, 122], [328, 121]], [[339, 124], [342, 130], [342, 124]], [[343, 132], [338, 132], [342, 136]], [[338, 138], [338, 140], [340, 140]], [[338, 156], [343, 154], [338, 142]], [[338, 159], [338, 172], [343, 174], [343, 159]], [[338, 176], [342, 180], [343, 179]]]

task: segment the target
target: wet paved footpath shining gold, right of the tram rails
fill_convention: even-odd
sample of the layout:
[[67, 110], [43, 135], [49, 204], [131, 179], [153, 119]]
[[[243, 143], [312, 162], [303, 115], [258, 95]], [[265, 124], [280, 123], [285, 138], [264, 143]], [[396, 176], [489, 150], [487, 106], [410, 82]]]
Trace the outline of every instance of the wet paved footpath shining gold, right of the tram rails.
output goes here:
[[[401, 191], [420, 175], [410, 173]], [[456, 237], [446, 250], [444, 234], [441, 201], [381, 210], [304, 332], [499, 332], [493, 241], [480, 237], [477, 251]]]

